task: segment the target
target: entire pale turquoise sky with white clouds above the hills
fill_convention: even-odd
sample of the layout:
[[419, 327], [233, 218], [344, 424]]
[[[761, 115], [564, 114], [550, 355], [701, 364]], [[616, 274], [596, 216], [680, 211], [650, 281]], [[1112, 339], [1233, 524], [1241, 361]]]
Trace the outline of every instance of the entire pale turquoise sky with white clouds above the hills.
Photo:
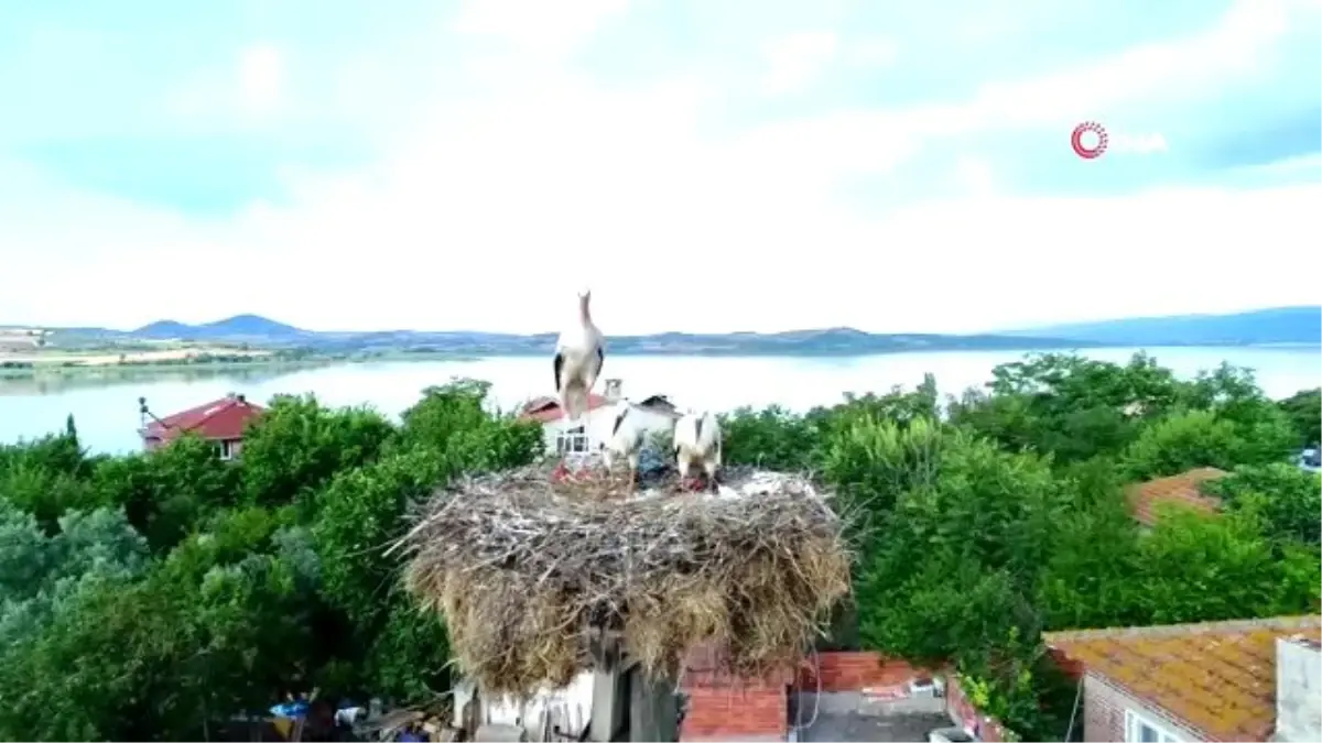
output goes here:
[[0, 323], [1318, 304], [1319, 67], [1322, 0], [5, 3]]

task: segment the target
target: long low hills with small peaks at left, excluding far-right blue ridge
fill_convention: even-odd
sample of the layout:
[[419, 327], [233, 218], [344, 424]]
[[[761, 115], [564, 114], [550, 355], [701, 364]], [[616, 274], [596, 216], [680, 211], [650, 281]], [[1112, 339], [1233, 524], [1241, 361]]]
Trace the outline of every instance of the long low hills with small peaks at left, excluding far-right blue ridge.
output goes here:
[[[276, 323], [258, 315], [238, 315], [215, 323], [188, 325], [160, 320], [136, 331], [66, 328], [56, 331], [57, 344], [134, 342], [180, 340], [215, 344], [247, 344], [274, 349], [308, 349], [320, 353], [412, 352], [455, 356], [549, 354], [555, 348], [553, 333], [527, 336], [469, 331], [373, 331], [316, 332]], [[1072, 340], [1015, 336], [941, 336], [932, 333], [865, 333], [853, 328], [787, 331], [781, 333], [658, 333], [652, 336], [611, 336], [613, 354], [701, 354], [701, 356], [858, 356], [904, 350], [1034, 350], [1079, 348]]]

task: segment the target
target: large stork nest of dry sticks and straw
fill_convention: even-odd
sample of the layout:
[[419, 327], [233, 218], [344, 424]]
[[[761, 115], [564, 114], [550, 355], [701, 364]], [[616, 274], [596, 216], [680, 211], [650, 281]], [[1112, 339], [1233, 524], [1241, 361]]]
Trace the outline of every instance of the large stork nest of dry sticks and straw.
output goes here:
[[740, 677], [797, 664], [849, 592], [841, 520], [804, 477], [727, 471], [717, 494], [662, 480], [627, 496], [530, 467], [426, 504], [397, 546], [460, 670], [489, 693], [562, 687], [603, 637], [658, 678], [707, 644]]

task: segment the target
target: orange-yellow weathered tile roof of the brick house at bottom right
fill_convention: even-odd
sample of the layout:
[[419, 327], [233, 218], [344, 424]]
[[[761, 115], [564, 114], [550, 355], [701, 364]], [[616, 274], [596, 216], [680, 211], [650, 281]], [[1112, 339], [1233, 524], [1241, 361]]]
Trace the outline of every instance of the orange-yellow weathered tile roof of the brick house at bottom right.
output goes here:
[[1276, 727], [1276, 639], [1292, 636], [1322, 641], [1322, 615], [1048, 632], [1043, 640], [1204, 735], [1265, 740]]

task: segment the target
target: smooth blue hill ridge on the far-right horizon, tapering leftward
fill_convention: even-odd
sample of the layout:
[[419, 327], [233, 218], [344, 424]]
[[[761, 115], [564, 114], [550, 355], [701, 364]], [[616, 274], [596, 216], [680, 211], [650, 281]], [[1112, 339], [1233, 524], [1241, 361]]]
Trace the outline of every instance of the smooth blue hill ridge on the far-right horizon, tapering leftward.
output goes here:
[[1003, 334], [1066, 337], [1110, 346], [1322, 344], [1322, 307], [1103, 320], [1009, 331]]

